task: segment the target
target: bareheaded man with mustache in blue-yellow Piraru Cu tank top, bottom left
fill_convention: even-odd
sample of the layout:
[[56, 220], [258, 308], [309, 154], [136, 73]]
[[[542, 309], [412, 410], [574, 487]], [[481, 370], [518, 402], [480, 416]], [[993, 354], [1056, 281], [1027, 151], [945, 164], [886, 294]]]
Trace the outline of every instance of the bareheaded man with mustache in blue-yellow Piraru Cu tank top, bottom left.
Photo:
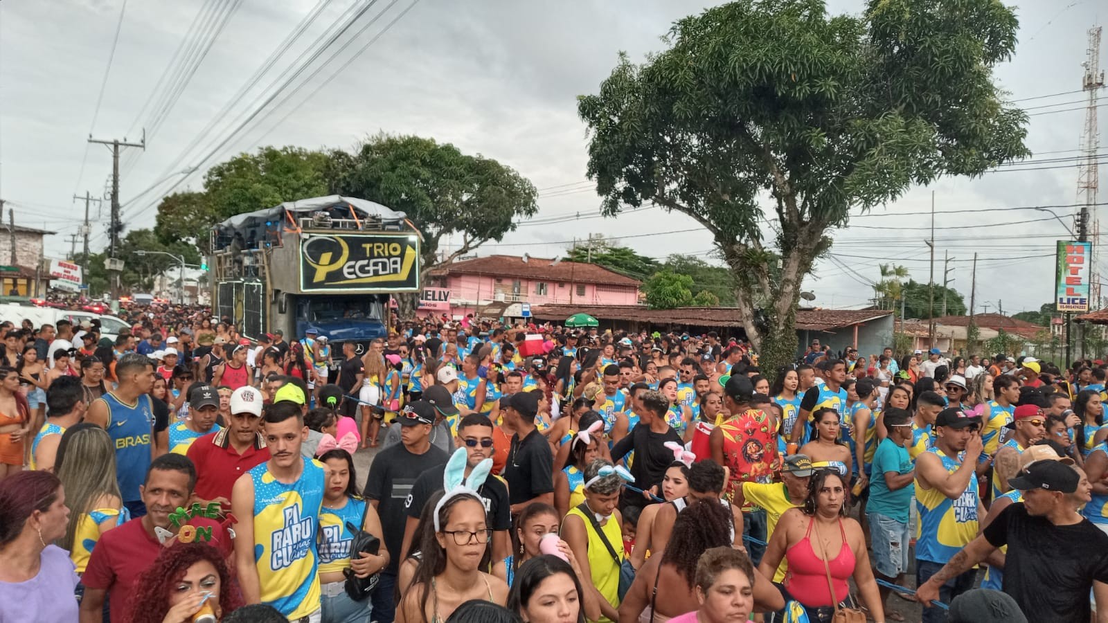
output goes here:
[[326, 467], [300, 453], [308, 437], [300, 405], [278, 400], [265, 408], [269, 460], [235, 481], [230, 509], [235, 563], [246, 603], [266, 603], [290, 621], [320, 620], [319, 510]]

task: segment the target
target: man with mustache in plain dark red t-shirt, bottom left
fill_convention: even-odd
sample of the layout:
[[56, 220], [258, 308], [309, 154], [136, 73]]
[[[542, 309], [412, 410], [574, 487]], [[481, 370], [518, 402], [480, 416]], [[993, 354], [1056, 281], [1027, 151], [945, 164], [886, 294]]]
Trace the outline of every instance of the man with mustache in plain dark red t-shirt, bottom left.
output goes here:
[[[109, 591], [112, 620], [131, 621], [129, 602], [138, 578], [157, 558], [162, 543], [179, 530], [170, 520], [170, 513], [187, 505], [195, 484], [196, 468], [188, 458], [170, 453], [154, 459], [138, 488], [146, 514], [104, 532], [92, 550], [89, 566], [81, 576], [84, 585], [81, 623], [102, 621]], [[216, 521], [207, 518], [192, 518], [187, 523], [211, 527], [217, 537], [224, 532]]]

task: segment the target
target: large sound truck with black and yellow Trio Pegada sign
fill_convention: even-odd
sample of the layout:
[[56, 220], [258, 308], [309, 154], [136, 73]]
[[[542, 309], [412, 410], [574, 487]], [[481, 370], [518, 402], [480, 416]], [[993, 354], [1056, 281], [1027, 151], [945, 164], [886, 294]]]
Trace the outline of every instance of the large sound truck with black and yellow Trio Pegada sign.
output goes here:
[[212, 231], [213, 312], [252, 339], [314, 328], [332, 358], [347, 341], [362, 354], [388, 336], [391, 296], [419, 292], [420, 243], [402, 212], [356, 197], [239, 214]]

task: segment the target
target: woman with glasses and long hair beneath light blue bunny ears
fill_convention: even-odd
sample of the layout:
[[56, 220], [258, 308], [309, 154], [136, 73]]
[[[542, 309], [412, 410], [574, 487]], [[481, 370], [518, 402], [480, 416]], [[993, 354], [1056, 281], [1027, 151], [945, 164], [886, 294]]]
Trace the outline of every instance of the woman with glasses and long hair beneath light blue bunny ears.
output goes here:
[[444, 623], [469, 600], [504, 605], [507, 584], [481, 571], [492, 530], [473, 492], [448, 493], [433, 515], [435, 531], [420, 543], [419, 566], [397, 607], [398, 623]]

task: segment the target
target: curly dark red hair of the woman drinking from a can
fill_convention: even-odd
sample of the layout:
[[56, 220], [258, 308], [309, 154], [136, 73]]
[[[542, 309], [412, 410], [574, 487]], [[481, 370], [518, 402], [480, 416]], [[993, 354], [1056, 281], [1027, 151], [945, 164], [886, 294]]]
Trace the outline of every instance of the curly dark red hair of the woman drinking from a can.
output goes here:
[[161, 623], [170, 611], [170, 588], [179, 582], [194, 563], [207, 561], [219, 574], [219, 607], [227, 615], [242, 607], [243, 595], [219, 551], [207, 543], [175, 543], [157, 554], [143, 572], [131, 598], [131, 623]]

